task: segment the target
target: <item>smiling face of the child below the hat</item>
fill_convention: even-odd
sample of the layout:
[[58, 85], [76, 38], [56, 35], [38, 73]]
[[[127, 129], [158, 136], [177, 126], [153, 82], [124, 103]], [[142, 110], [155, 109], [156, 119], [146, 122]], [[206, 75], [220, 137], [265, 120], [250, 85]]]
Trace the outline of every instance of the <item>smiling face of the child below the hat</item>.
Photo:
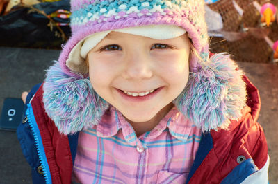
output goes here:
[[111, 32], [88, 53], [95, 91], [127, 120], [164, 117], [188, 81], [186, 35], [158, 40]]

